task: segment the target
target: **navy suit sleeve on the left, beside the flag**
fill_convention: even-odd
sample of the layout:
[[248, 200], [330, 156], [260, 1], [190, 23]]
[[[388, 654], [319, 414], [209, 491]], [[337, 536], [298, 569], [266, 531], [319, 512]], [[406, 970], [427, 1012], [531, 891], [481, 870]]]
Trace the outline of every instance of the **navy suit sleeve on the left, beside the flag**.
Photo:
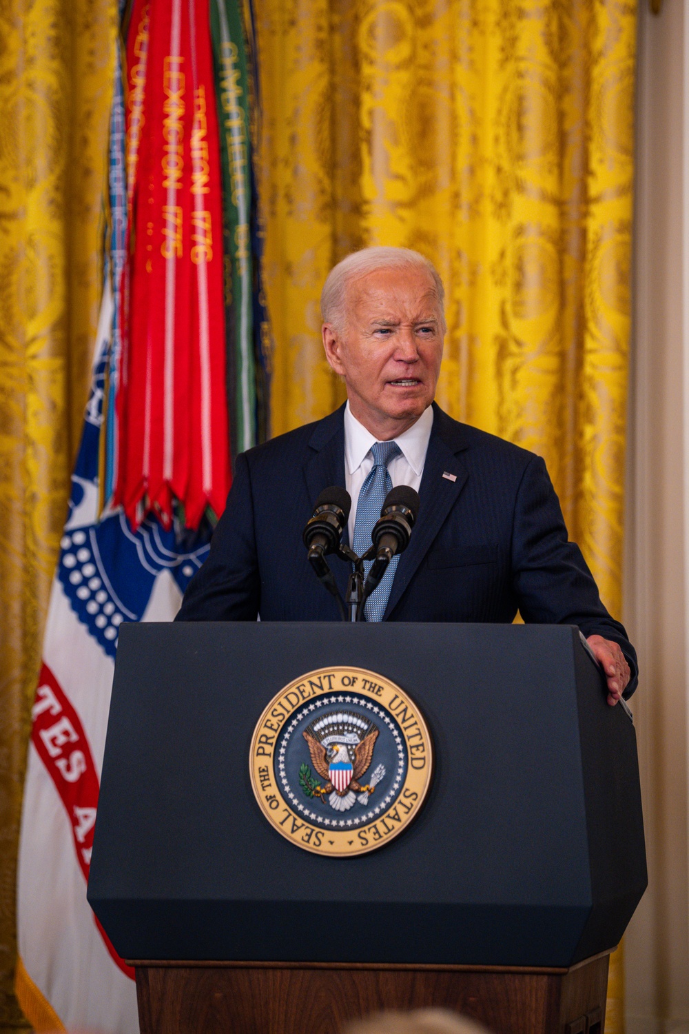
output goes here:
[[177, 621], [255, 621], [260, 605], [249, 464], [237, 457], [225, 512], [203, 566], [187, 586]]

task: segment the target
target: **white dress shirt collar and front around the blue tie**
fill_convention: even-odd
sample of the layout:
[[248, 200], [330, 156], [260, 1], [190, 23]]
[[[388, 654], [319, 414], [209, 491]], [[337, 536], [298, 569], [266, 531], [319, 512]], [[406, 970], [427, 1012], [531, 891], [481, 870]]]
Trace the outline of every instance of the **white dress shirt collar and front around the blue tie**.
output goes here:
[[[346, 488], [351, 496], [351, 510], [349, 511], [349, 544], [354, 541], [354, 522], [356, 521], [356, 504], [362, 485], [371, 473], [373, 466], [373, 456], [371, 446], [378, 439], [367, 431], [364, 424], [361, 424], [349, 408], [349, 402], [345, 406], [345, 482]], [[395, 438], [401, 452], [395, 456], [387, 464], [393, 488], [398, 485], [409, 485], [416, 492], [421, 483], [424, 464], [426, 463], [426, 453], [429, 448], [431, 428], [433, 427], [433, 406], [425, 409], [415, 424], [403, 434]]]

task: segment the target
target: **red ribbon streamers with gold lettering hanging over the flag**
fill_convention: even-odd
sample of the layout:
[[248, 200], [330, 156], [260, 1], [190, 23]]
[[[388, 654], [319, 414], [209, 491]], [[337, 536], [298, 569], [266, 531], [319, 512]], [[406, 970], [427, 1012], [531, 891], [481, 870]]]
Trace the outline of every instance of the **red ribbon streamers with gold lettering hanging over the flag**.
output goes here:
[[168, 526], [177, 498], [195, 527], [208, 506], [222, 512], [231, 480], [208, 0], [135, 3], [127, 54], [132, 246], [115, 503], [133, 526], [151, 511]]

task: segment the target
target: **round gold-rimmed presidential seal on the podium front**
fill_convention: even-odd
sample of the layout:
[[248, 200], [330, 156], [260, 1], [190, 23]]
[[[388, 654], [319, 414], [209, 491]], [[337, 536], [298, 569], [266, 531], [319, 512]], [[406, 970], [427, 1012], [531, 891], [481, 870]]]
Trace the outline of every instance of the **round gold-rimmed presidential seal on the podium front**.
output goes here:
[[409, 696], [363, 668], [319, 668], [285, 686], [251, 741], [251, 785], [269, 822], [305, 851], [375, 851], [405, 829], [431, 784], [433, 750]]

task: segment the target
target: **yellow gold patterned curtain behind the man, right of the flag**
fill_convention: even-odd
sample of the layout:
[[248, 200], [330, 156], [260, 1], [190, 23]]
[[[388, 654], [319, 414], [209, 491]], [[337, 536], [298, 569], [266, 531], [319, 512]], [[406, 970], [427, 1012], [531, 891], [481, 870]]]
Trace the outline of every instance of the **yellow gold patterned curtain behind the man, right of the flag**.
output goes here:
[[[447, 412], [540, 453], [621, 605], [635, 5], [256, 0], [273, 431], [343, 398], [331, 267], [416, 248], [446, 286]], [[621, 957], [608, 989], [622, 1030]]]

